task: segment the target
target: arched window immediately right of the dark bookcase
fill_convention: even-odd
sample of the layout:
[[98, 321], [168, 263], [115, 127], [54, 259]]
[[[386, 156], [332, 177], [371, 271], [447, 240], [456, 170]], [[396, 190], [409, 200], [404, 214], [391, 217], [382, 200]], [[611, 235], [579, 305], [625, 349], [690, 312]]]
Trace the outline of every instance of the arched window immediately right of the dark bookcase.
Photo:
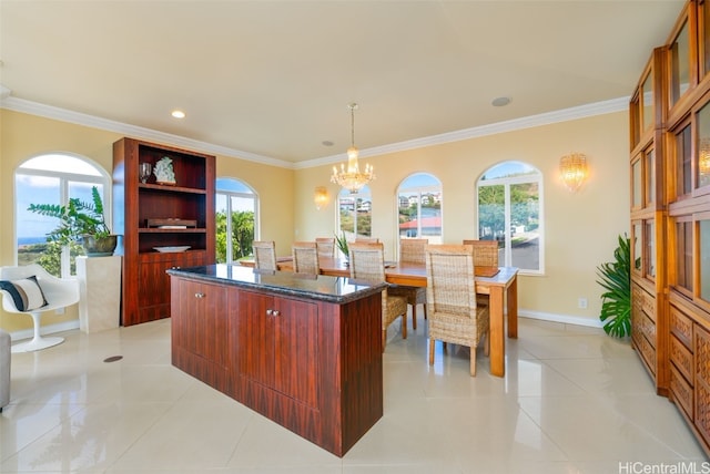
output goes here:
[[217, 178], [215, 188], [216, 261], [236, 261], [252, 253], [258, 228], [256, 193], [233, 178]]

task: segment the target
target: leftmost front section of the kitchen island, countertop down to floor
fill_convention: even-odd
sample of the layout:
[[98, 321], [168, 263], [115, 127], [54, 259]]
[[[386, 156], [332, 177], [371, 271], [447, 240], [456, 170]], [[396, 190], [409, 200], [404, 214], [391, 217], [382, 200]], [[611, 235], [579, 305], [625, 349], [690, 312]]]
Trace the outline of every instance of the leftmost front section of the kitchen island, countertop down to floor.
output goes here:
[[226, 392], [230, 363], [227, 290], [219, 285], [173, 279], [172, 363]]

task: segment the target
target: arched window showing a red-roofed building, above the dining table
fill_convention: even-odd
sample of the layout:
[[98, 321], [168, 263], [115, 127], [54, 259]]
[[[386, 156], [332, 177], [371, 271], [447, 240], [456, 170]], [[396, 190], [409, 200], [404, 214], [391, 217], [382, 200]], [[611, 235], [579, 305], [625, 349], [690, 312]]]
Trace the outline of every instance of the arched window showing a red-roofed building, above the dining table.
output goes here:
[[442, 183], [428, 173], [415, 173], [397, 189], [399, 238], [442, 243]]

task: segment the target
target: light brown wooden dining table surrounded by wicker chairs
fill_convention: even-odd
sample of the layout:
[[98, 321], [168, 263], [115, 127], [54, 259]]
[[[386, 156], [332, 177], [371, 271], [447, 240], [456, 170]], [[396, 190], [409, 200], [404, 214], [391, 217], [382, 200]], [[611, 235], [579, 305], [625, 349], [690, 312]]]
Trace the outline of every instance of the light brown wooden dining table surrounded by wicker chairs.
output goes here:
[[[253, 267], [254, 260], [240, 260], [241, 265]], [[278, 257], [281, 271], [293, 271], [291, 257]], [[348, 262], [339, 257], [320, 257], [320, 272], [333, 277], [349, 277]], [[504, 377], [506, 373], [506, 322], [508, 338], [518, 338], [518, 268], [475, 267], [476, 292], [488, 295], [490, 315], [490, 373]], [[385, 279], [393, 285], [426, 287], [426, 266], [423, 264], [385, 261]], [[506, 311], [507, 309], [507, 311]], [[507, 319], [507, 321], [506, 321]]]

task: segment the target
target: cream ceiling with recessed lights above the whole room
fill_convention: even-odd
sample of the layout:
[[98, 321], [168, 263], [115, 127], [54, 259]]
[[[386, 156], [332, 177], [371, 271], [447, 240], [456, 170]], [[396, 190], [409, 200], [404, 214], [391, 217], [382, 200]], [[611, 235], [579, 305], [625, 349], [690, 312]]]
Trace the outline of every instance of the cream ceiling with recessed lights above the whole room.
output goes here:
[[351, 102], [365, 150], [627, 97], [683, 3], [0, 0], [0, 84], [297, 164], [344, 154]]

